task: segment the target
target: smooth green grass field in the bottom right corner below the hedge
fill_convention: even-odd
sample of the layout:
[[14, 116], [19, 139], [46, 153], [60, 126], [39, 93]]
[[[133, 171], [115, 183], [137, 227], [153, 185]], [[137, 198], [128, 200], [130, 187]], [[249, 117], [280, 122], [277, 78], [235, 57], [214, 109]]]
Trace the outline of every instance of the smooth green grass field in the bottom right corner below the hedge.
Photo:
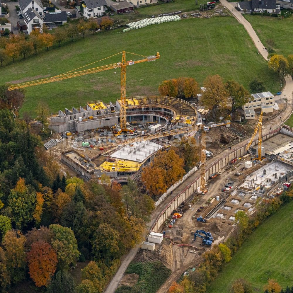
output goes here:
[[293, 202], [282, 207], [260, 225], [245, 241], [207, 290], [229, 293], [234, 280], [252, 283], [255, 292], [263, 292], [268, 278], [285, 289], [293, 286]]

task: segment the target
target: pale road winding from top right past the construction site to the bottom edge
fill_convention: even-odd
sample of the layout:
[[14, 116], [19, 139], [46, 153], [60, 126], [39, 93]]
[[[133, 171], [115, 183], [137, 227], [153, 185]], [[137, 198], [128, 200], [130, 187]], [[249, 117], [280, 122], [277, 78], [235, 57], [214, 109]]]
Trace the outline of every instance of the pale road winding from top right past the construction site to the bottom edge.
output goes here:
[[[261, 50], [259, 50], [259, 53], [263, 56], [263, 58], [265, 60], [267, 60], [268, 57], [268, 52], [263, 50], [264, 45], [262, 44], [262, 42], [260, 41], [260, 39], [258, 38], [258, 36], [256, 35], [255, 31], [253, 30], [251, 24], [246, 21], [246, 19], [244, 17], [241, 16], [241, 13], [239, 11], [237, 11], [229, 2], [227, 2], [226, 0], [220, 0], [221, 3], [226, 6], [226, 8], [229, 9], [229, 11], [231, 11], [231, 13], [235, 16], [235, 18], [243, 24], [243, 26], [245, 27], [245, 29], [247, 30], [248, 34], [251, 36], [251, 39], [253, 40], [255, 47], [259, 48]], [[233, 4], [233, 3], [232, 3]], [[285, 109], [285, 111], [283, 111], [280, 117], [276, 117], [273, 120], [270, 120], [270, 122], [268, 122], [268, 124], [264, 124], [263, 125], [263, 134], [269, 132], [270, 126], [272, 126], [272, 129], [278, 128], [280, 125], [282, 125], [282, 121], [285, 121], [292, 113], [292, 106], [293, 106], [293, 96], [292, 96], [292, 92], [293, 92], [293, 81], [292, 81], [292, 77], [291, 76], [286, 76], [285, 78], [286, 81], [286, 85], [285, 88], [282, 92], [282, 95], [280, 96], [280, 98], [287, 98], [288, 100], [288, 104], [287, 107]], [[282, 120], [282, 121], [281, 121]], [[239, 142], [238, 144], [235, 145], [235, 148], [243, 145], [243, 142]], [[209, 164], [213, 161], [216, 161], [217, 159], [221, 158], [222, 156], [224, 156], [226, 153], [228, 153], [229, 150], [224, 150], [222, 151], [219, 155], [213, 157], [211, 159], [211, 161], [207, 162], [207, 166], [209, 166]], [[158, 217], [158, 215], [161, 213], [161, 211], [164, 209], [164, 207], [166, 207], [166, 205], [168, 205], [169, 202], [171, 202], [171, 200], [178, 195], [187, 185], [189, 185], [190, 183], [192, 183], [195, 178], [197, 176], [200, 175], [200, 171], [195, 172], [193, 175], [191, 175], [188, 179], [186, 179], [180, 186], [178, 186], [172, 193], [172, 195], [169, 195], [162, 203], [161, 205], [159, 205], [156, 210], [154, 211], [154, 213], [152, 214], [151, 217], [151, 221], [149, 223], [149, 227], [151, 227], [156, 218]], [[139, 246], [137, 246], [136, 248], [133, 248], [125, 257], [125, 259], [122, 261], [120, 268], [118, 269], [117, 273], [115, 274], [115, 276], [113, 277], [113, 279], [111, 280], [111, 282], [109, 283], [108, 287], [106, 288], [104, 293], [114, 293], [117, 286], [119, 285], [119, 282], [126, 270], [126, 268], [128, 267], [128, 265], [130, 264], [130, 262], [132, 261], [132, 259], [134, 258], [134, 256], [136, 255], [137, 251], [139, 250]]]

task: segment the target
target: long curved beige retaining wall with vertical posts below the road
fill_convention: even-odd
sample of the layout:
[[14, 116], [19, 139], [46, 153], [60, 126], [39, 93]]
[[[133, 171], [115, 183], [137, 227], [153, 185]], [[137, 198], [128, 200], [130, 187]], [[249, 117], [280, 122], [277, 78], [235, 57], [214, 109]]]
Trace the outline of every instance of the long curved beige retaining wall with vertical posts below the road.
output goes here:
[[[263, 141], [276, 135], [280, 132], [280, 129], [274, 130], [268, 134], [263, 135]], [[258, 143], [258, 139], [255, 139], [252, 143], [253, 146], [255, 146]], [[206, 168], [206, 181], [209, 178], [209, 175], [218, 172], [225, 166], [229, 164], [231, 159], [239, 158], [247, 154], [246, 151], [246, 144], [243, 146], [240, 146], [238, 148], [233, 149], [229, 154], [226, 156], [223, 156], [222, 158], [218, 159], [212, 165], [208, 166]], [[193, 193], [196, 192], [197, 188], [200, 186], [200, 176], [195, 178], [195, 180], [190, 183], [187, 187], [184, 188], [183, 191], [181, 191], [159, 214], [158, 218], [156, 219], [156, 222], [151, 227], [152, 232], [158, 232], [161, 225], [166, 221], [166, 219], [172, 214], [174, 209], [177, 209], [178, 206], [185, 200], [187, 200]]]

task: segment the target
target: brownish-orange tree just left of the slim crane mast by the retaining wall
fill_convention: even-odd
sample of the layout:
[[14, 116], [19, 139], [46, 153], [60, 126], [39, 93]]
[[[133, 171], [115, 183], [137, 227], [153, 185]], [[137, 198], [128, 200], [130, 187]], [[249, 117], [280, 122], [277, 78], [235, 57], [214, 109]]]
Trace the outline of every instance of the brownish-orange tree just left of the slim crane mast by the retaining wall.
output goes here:
[[194, 137], [183, 137], [175, 151], [184, 160], [185, 171], [189, 171], [200, 160], [199, 148]]

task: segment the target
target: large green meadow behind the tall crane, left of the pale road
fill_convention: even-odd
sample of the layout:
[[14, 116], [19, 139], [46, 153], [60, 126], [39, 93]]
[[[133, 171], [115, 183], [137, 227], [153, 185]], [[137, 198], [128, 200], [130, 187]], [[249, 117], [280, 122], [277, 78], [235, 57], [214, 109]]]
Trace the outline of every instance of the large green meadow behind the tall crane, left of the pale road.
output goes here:
[[[21, 83], [65, 73], [122, 50], [142, 55], [160, 52], [156, 62], [127, 67], [127, 96], [158, 94], [159, 84], [180, 76], [194, 77], [202, 86], [211, 74], [224, 80], [235, 79], [248, 88], [255, 76], [264, 81], [266, 91], [276, 92], [278, 79], [267, 62], [257, 54], [246, 30], [233, 17], [189, 18], [178, 22], [150, 25], [122, 33], [113, 30], [76, 40], [64, 47], [31, 56], [1, 68], [2, 83]], [[127, 60], [137, 57], [127, 54]], [[121, 56], [92, 64], [98, 67], [119, 62]], [[83, 68], [83, 69], [86, 69]], [[50, 112], [84, 106], [86, 102], [115, 102], [120, 98], [120, 70], [100, 72], [64, 81], [26, 88], [21, 115], [33, 116], [38, 101], [44, 100]]]

